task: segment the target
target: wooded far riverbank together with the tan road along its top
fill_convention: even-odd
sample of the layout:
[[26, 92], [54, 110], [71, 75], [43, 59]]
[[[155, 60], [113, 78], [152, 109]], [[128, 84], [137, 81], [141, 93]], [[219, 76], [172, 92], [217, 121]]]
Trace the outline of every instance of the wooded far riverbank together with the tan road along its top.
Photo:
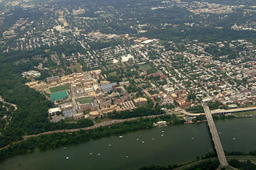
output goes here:
[[[234, 117], [220, 115], [220, 116], [215, 116], [214, 118], [215, 120], [219, 120], [219, 119], [224, 120], [224, 119], [231, 119]], [[141, 130], [145, 128], [152, 128], [153, 123], [159, 120], [166, 120], [168, 123], [172, 125], [177, 123], [184, 123], [183, 119], [180, 119], [180, 117], [176, 117], [174, 114], [173, 115], [158, 114], [158, 115], [151, 115], [151, 116], [144, 116], [144, 117], [132, 117], [132, 118], [122, 119], [122, 120], [111, 120], [107, 122], [97, 123], [92, 127], [84, 127], [84, 128], [77, 128], [77, 129], [71, 129], [71, 130], [53, 130], [53, 131], [38, 133], [30, 136], [23, 136], [23, 140], [12, 143], [11, 145], [5, 146], [4, 148], [0, 149], [0, 159], [6, 159], [11, 156], [17, 156], [27, 152], [33, 152], [35, 148], [38, 148], [40, 150], [53, 149], [60, 146], [83, 143], [90, 139], [99, 139], [105, 136], [128, 133], [134, 130]], [[133, 128], [126, 127], [125, 124], [127, 122], [134, 122], [135, 127]], [[144, 123], [147, 123], [147, 126], [144, 126]], [[122, 127], [122, 130], [115, 130], [115, 132], [112, 132], [112, 133], [100, 132], [102, 128], [103, 129], [109, 128], [109, 127], [113, 128], [115, 127], [115, 125], [117, 125], [116, 127]], [[131, 125], [131, 126], [134, 126], [134, 125]], [[89, 131], [89, 134], [83, 133], [87, 131]], [[99, 132], [100, 132], [100, 135], [97, 134]], [[82, 140], [77, 139], [77, 136], [73, 135], [74, 133], [81, 134]], [[61, 140], [62, 138], [68, 139], [68, 140]]]

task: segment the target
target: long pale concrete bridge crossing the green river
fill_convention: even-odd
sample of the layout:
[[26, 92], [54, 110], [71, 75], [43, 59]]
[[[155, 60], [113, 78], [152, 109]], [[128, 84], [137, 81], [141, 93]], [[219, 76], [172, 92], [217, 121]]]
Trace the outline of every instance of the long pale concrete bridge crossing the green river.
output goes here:
[[207, 105], [207, 103], [203, 103], [203, 110], [205, 111], [209, 130], [210, 130], [210, 133], [212, 134], [212, 140], [213, 140], [215, 150], [216, 150], [218, 158], [219, 158], [219, 163], [220, 163], [219, 169], [220, 168], [236, 169], [236, 168], [233, 168], [232, 166], [228, 165], [228, 161], [225, 158], [225, 153], [222, 148], [222, 143], [219, 139], [219, 134], [215, 127], [215, 123], [214, 123], [211, 111], [209, 110], [209, 106]]

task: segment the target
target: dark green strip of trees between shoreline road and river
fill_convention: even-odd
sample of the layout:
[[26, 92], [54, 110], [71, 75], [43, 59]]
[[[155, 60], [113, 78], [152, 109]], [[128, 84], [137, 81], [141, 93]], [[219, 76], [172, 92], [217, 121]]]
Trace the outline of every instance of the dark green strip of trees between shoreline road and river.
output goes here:
[[[134, 117], [135, 118], [135, 117]], [[231, 119], [232, 116], [215, 116], [215, 119]], [[201, 117], [200, 119], [203, 119]], [[175, 114], [154, 115], [149, 117], [136, 117], [135, 120], [124, 121], [122, 123], [114, 123], [107, 126], [96, 127], [89, 130], [79, 130], [73, 133], [50, 133], [39, 136], [31, 136], [26, 140], [12, 143], [9, 146], [0, 149], [0, 159], [7, 159], [12, 156], [18, 156], [24, 153], [34, 152], [34, 149], [46, 151], [61, 146], [70, 146], [74, 144], [84, 143], [89, 140], [97, 140], [102, 137], [121, 135], [135, 130], [153, 128], [153, 123], [165, 120], [170, 126], [184, 123], [185, 120], [177, 117]]]

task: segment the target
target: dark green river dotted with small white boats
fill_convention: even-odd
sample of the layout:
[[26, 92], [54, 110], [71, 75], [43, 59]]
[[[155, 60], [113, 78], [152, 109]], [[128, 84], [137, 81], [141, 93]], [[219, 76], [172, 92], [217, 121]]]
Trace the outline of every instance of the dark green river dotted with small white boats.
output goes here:
[[[226, 151], [256, 149], [256, 117], [217, 120], [215, 125]], [[127, 170], [190, 162], [210, 149], [213, 148], [206, 123], [180, 124], [126, 133], [122, 139], [110, 136], [46, 152], [36, 150], [0, 162], [0, 169]]]

